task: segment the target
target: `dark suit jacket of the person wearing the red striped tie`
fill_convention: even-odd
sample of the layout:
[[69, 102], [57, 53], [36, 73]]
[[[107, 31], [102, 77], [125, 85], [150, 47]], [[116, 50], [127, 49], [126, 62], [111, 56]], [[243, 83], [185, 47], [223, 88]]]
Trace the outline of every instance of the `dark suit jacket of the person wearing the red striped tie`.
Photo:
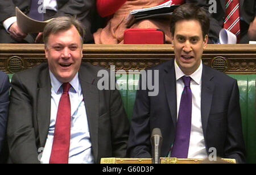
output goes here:
[[[225, 20], [225, 0], [217, 1], [217, 13], [213, 13], [210, 18], [209, 39], [217, 41]], [[240, 0], [240, 16], [244, 23], [241, 23], [240, 43], [248, 43], [247, 30], [250, 23], [256, 16], [256, 1]]]

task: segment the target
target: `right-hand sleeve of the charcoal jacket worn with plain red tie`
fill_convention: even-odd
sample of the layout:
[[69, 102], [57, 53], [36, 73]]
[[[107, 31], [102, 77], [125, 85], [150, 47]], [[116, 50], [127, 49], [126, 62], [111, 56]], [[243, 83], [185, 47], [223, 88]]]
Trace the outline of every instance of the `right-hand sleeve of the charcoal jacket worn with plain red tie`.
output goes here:
[[118, 90], [110, 92], [110, 120], [112, 127], [112, 151], [114, 157], [125, 157], [130, 123]]

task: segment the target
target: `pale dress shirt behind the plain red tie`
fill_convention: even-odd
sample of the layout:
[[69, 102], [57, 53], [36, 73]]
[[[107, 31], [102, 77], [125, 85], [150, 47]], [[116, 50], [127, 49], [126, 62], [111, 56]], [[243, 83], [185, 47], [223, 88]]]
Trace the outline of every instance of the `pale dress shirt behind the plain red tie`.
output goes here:
[[[49, 124], [49, 131], [46, 140], [46, 145], [43, 149], [41, 163], [48, 164], [51, 157], [52, 143], [54, 138], [55, 123], [57, 116], [57, 109], [59, 106], [60, 97], [63, 93], [59, 82], [50, 71], [51, 78], [51, 120]], [[92, 155], [92, 143], [90, 141], [90, 133], [88, 127], [88, 120], [86, 116], [84, 97], [80, 86], [78, 73], [71, 82], [71, 89], [69, 90], [69, 98], [71, 101], [71, 142], [69, 147], [68, 163], [94, 163]]]

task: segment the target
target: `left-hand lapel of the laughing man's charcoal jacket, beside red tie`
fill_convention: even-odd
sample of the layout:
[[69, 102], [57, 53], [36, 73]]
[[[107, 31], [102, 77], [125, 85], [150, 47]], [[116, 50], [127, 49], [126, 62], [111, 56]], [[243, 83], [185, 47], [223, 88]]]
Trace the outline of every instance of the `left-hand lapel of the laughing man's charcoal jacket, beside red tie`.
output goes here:
[[37, 95], [36, 116], [38, 117], [39, 139], [41, 147], [44, 147], [51, 118], [51, 80], [49, 78], [48, 68], [44, 69], [40, 75]]

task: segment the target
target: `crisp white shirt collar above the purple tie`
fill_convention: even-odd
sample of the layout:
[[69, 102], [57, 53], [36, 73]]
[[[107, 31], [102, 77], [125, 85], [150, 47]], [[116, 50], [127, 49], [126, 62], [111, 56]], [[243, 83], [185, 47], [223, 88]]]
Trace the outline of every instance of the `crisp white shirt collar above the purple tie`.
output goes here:
[[[181, 77], [186, 76], [180, 69], [179, 65], [177, 65], [176, 59], [174, 61], [174, 67], [175, 67], [176, 81], [179, 80]], [[191, 77], [192, 80], [196, 82], [196, 84], [200, 85], [202, 73], [203, 73], [203, 63], [201, 60], [199, 68], [197, 68], [196, 71], [193, 72], [189, 77]]]

